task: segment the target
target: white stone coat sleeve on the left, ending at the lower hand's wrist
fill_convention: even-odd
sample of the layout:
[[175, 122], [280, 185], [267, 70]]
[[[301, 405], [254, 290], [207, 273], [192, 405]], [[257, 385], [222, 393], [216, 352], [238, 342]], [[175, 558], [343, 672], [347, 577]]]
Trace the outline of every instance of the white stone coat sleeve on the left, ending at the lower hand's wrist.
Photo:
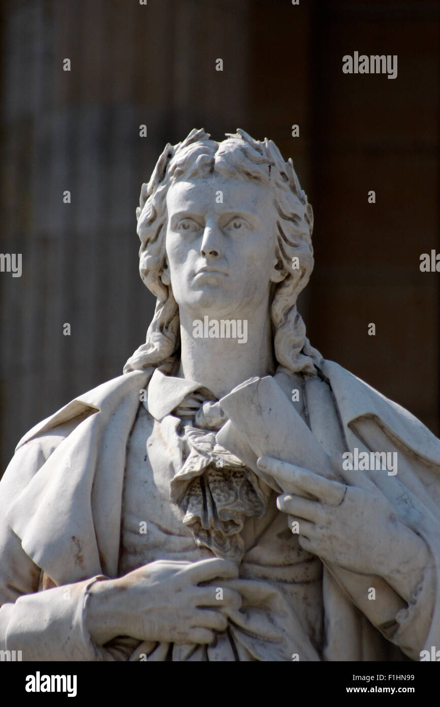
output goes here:
[[61, 433], [25, 443], [0, 481], [0, 650], [21, 650], [25, 661], [128, 660], [124, 650], [95, 645], [86, 628], [88, 590], [106, 578], [97, 575], [42, 588], [41, 568], [25, 553], [6, 521], [10, 503], [64, 437]]

